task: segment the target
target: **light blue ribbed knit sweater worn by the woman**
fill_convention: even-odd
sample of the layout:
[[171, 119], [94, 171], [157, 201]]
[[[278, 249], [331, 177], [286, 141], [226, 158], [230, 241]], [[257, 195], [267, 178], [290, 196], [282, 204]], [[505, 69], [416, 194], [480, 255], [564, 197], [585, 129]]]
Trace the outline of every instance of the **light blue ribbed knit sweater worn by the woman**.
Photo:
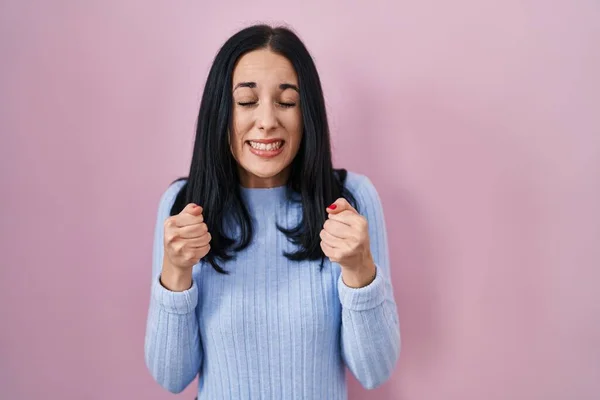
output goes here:
[[400, 329], [390, 280], [386, 228], [371, 181], [349, 173], [346, 186], [369, 223], [375, 280], [353, 289], [326, 259], [293, 262], [276, 227], [295, 226], [300, 205], [284, 187], [242, 188], [255, 227], [251, 245], [218, 274], [200, 262], [193, 284], [171, 292], [159, 282], [163, 222], [183, 181], [162, 195], [156, 221], [146, 365], [170, 392], [199, 376], [199, 399], [347, 398], [345, 366], [365, 388], [386, 381], [398, 359]]

